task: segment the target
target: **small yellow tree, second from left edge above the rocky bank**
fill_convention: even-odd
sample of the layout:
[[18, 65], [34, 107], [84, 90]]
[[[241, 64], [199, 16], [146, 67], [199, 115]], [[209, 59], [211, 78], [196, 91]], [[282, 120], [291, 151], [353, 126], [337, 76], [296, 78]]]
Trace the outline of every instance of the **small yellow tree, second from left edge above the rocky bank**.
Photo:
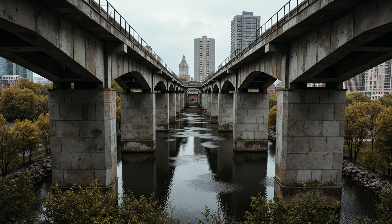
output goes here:
[[23, 163], [25, 163], [25, 153], [28, 152], [29, 160], [33, 153], [37, 151], [38, 132], [36, 125], [31, 120], [24, 119], [20, 121], [15, 120], [13, 132], [16, 135], [16, 144], [19, 147], [19, 152], [23, 155]]

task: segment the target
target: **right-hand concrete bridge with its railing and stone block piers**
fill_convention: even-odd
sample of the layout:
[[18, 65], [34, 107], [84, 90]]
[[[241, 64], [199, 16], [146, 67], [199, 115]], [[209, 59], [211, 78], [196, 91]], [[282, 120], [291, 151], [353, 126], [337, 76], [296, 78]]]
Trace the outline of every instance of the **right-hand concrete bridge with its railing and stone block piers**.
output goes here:
[[[276, 193], [341, 188], [343, 81], [392, 58], [391, 8], [387, 0], [290, 1], [205, 80], [202, 106], [220, 131], [233, 131], [236, 151], [267, 151], [266, 89], [281, 80]], [[307, 87], [314, 82], [326, 87]]]

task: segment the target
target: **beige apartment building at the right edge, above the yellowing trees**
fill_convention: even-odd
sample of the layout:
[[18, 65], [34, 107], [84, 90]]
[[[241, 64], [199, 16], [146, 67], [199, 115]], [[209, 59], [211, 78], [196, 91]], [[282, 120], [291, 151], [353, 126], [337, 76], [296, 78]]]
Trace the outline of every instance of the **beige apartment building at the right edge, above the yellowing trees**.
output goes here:
[[390, 94], [391, 66], [392, 60], [388, 60], [365, 71], [365, 89], [361, 92], [372, 100], [382, 97], [384, 94]]

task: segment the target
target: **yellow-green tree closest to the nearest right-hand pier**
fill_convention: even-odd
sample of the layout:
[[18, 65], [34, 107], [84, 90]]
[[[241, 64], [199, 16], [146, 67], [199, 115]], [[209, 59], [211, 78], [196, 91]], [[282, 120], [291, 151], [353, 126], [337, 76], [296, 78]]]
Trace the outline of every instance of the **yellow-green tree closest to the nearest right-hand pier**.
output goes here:
[[[368, 137], [370, 120], [366, 117], [367, 104], [356, 102], [346, 107], [344, 140], [350, 160], [357, 161], [363, 141]], [[354, 156], [353, 156], [354, 151]]]

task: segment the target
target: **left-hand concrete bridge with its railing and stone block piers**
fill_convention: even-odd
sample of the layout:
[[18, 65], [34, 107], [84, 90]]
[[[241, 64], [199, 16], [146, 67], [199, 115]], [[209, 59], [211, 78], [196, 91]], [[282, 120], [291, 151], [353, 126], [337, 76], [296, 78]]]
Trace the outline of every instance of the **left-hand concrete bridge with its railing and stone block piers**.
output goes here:
[[54, 82], [49, 90], [53, 181], [70, 187], [98, 179], [117, 191], [111, 81], [124, 89], [124, 151], [154, 151], [155, 131], [169, 130], [185, 96], [181, 81], [151, 46], [112, 5], [97, 2], [0, 1], [0, 56]]

